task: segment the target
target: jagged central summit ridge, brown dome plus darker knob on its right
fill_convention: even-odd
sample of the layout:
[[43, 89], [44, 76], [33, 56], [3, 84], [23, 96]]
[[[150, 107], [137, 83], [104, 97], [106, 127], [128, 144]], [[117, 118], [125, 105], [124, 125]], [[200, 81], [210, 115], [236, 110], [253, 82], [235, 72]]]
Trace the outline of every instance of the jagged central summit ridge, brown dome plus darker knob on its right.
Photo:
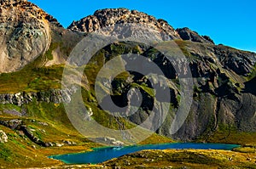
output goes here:
[[93, 15], [89, 15], [79, 21], [73, 21], [73, 23], [68, 26], [68, 29], [72, 31], [93, 32], [106, 26], [126, 23], [153, 26], [155, 29], [165, 32], [172, 39], [214, 43], [210, 37], [200, 36], [197, 32], [189, 30], [189, 28], [175, 30], [166, 20], [157, 20], [154, 16], [127, 8], [105, 8], [96, 10]]

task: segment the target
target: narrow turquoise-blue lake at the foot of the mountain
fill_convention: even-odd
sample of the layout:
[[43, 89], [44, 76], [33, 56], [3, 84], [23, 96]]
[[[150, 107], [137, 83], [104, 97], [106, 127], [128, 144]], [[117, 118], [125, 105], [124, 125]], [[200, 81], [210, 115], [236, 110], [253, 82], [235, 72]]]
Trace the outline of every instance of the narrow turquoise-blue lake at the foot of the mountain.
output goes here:
[[53, 155], [49, 158], [63, 161], [67, 164], [97, 164], [104, 161], [109, 161], [122, 155], [134, 153], [143, 149], [224, 149], [231, 150], [239, 145], [236, 144], [148, 144], [148, 145], [134, 145], [127, 147], [108, 147], [98, 148], [93, 151], [78, 154], [68, 155]]

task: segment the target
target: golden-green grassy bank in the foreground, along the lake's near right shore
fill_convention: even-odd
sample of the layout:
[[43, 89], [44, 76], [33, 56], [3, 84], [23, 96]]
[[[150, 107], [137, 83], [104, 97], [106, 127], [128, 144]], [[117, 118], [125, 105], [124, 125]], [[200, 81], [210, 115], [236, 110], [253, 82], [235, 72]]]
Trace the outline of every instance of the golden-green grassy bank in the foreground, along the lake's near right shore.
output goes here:
[[224, 150], [144, 150], [107, 161], [122, 168], [256, 168], [255, 153]]

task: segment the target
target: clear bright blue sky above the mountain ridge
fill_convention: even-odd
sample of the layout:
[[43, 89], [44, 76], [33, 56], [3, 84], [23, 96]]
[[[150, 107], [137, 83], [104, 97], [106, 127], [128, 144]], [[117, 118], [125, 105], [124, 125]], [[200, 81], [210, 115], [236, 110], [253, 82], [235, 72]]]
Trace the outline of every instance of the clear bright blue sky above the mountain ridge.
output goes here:
[[214, 42], [256, 52], [256, 1], [254, 0], [28, 0], [67, 27], [73, 20], [102, 8], [137, 9], [174, 28], [189, 27]]

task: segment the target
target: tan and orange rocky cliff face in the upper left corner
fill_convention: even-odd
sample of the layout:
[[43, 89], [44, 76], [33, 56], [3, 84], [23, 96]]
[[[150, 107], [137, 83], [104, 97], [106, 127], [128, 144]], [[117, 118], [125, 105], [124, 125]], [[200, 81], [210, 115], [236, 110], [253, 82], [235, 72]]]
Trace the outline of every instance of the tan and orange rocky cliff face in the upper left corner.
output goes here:
[[1, 0], [0, 5], [0, 72], [12, 72], [44, 54], [50, 25], [61, 25], [25, 0]]

